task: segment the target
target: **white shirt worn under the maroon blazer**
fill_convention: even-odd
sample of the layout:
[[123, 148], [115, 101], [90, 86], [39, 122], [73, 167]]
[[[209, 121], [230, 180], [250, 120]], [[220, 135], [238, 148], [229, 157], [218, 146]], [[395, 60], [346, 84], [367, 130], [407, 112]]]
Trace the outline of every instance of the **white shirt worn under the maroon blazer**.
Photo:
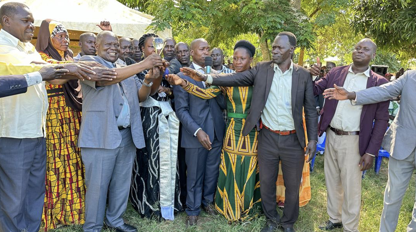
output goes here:
[[[350, 66], [342, 87], [349, 92], [365, 90], [368, 77], [370, 77], [370, 67], [365, 72], [354, 74]], [[362, 109], [363, 105], [352, 105], [347, 100], [339, 101], [329, 125], [339, 130], [359, 131]]]

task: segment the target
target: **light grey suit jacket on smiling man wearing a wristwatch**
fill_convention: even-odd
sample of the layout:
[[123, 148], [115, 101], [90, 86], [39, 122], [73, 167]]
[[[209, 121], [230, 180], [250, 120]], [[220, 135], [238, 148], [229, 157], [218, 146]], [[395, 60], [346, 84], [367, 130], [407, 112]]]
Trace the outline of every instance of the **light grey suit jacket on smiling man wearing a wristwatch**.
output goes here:
[[[99, 56], [84, 55], [79, 61], [96, 61], [111, 67]], [[118, 66], [117, 66], [118, 67]], [[79, 129], [78, 147], [114, 149], [121, 143], [121, 133], [117, 127], [117, 117], [124, 104], [119, 84], [96, 86], [95, 82], [81, 81], [82, 89], [82, 120]], [[124, 94], [130, 108], [130, 127], [134, 145], [142, 148], [144, 144], [143, 127], [141, 125], [138, 90], [134, 77], [121, 81]]]

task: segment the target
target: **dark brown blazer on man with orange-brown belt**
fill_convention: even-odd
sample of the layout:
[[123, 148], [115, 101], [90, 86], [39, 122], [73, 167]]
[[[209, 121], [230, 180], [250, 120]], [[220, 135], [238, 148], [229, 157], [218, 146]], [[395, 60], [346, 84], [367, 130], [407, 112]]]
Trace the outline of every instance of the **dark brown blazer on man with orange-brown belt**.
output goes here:
[[[243, 128], [243, 135], [258, 124], [266, 105], [274, 76], [274, 64], [271, 61], [258, 62], [256, 67], [236, 73], [212, 75], [213, 85], [218, 86], [251, 86], [253, 98]], [[278, 91], [278, 90], [277, 90]], [[306, 130], [309, 140], [318, 140], [318, 116], [313, 95], [312, 77], [309, 71], [293, 64], [292, 71], [292, 115], [295, 122], [297, 139], [302, 147], [306, 146], [305, 130], [303, 129], [302, 112], [305, 108]]]

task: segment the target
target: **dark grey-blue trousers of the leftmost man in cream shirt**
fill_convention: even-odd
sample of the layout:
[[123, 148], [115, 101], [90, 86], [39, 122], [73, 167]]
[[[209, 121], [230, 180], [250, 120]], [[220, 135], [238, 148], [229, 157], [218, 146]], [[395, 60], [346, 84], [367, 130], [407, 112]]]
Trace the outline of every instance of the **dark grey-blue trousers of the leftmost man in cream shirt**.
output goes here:
[[0, 137], [0, 232], [39, 231], [45, 175], [44, 137]]

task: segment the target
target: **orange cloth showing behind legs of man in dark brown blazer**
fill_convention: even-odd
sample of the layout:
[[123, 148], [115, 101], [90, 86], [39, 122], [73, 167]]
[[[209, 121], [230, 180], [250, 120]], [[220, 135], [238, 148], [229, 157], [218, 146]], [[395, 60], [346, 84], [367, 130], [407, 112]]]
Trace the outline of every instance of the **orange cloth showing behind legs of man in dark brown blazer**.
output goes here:
[[[305, 130], [306, 142], [308, 142], [308, 137], [306, 133], [305, 112], [303, 112], [303, 130]], [[309, 172], [309, 163], [306, 162], [307, 159], [309, 159], [309, 157], [305, 157], [305, 164], [303, 165], [303, 170], [302, 170], [302, 180], [300, 181], [300, 188], [299, 188], [299, 206], [300, 207], [305, 206], [311, 200], [310, 172]], [[281, 163], [279, 163], [279, 175], [277, 176], [277, 182], [276, 182], [276, 201], [277, 201], [278, 206], [284, 207], [285, 205], [285, 182], [283, 182]]]

